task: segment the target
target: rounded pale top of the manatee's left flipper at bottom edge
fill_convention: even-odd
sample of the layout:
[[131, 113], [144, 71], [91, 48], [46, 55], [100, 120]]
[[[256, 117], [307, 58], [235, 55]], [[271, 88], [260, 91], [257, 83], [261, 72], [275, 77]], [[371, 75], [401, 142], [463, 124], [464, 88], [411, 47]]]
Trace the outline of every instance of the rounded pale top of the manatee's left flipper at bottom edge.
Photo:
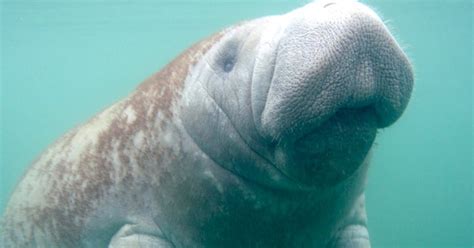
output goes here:
[[156, 225], [125, 224], [112, 237], [110, 248], [174, 248]]

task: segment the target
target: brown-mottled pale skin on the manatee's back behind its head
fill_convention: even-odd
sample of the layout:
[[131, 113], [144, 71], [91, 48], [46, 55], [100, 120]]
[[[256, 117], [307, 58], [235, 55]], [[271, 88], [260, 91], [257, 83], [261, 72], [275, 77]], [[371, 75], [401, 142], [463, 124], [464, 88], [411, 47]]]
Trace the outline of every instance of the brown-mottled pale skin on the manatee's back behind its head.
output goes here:
[[[180, 95], [189, 67], [220, 36], [216, 34], [191, 47], [129, 97], [70, 131], [46, 150], [11, 197], [2, 222], [4, 244], [84, 245], [85, 236], [95, 232], [87, 232], [88, 226], [96, 225], [90, 223], [96, 222], [90, 214], [104, 207], [103, 199], [110, 197], [115, 201], [128, 195], [128, 199], [118, 202], [138, 203], [141, 194], [153, 189], [163, 174], [158, 172], [157, 165], [175, 159], [173, 152], [163, 148], [157, 138], [163, 135], [175, 114], [171, 105]], [[129, 192], [130, 188], [137, 190]], [[142, 210], [152, 203], [143, 204]], [[109, 234], [127, 222], [120, 209], [105, 215], [111, 221], [104, 227], [109, 229]], [[97, 238], [106, 244], [111, 236]]]

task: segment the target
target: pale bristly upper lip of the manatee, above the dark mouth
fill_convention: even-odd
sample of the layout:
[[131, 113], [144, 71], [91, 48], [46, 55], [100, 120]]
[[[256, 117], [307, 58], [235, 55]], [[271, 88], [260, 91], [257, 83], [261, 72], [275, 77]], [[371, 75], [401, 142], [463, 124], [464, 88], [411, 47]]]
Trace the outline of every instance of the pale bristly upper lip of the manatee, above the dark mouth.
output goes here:
[[[268, 142], [304, 136], [344, 108], [373, 108], [378, 128], [406, 108], [413, 86], [407, 57], [373, 11], [359, 3], [340, 5], [334, 13], [341, 21], [334, 22], [311, 19], [318, 15], [314, 7], [290, 12], [296, 21], [284, 27], [268, 63], [271, 80], [259, 98], [265, 102], [252, 104], [255, 126]], [[312, 22], [298, 19], [302, 15]], [[307, 38], [310, 31], [317, 38]]]

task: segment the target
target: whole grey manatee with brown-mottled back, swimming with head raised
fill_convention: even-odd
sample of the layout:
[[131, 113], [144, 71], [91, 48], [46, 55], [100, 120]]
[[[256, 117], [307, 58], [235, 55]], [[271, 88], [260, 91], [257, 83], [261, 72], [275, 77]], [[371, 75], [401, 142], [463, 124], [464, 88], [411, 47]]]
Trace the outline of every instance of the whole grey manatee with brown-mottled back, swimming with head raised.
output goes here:
[[195, 45], [53, 144], [2, 222], [5, 247], [370, 247], [364, 184], [410, 64], [350, 1]]

